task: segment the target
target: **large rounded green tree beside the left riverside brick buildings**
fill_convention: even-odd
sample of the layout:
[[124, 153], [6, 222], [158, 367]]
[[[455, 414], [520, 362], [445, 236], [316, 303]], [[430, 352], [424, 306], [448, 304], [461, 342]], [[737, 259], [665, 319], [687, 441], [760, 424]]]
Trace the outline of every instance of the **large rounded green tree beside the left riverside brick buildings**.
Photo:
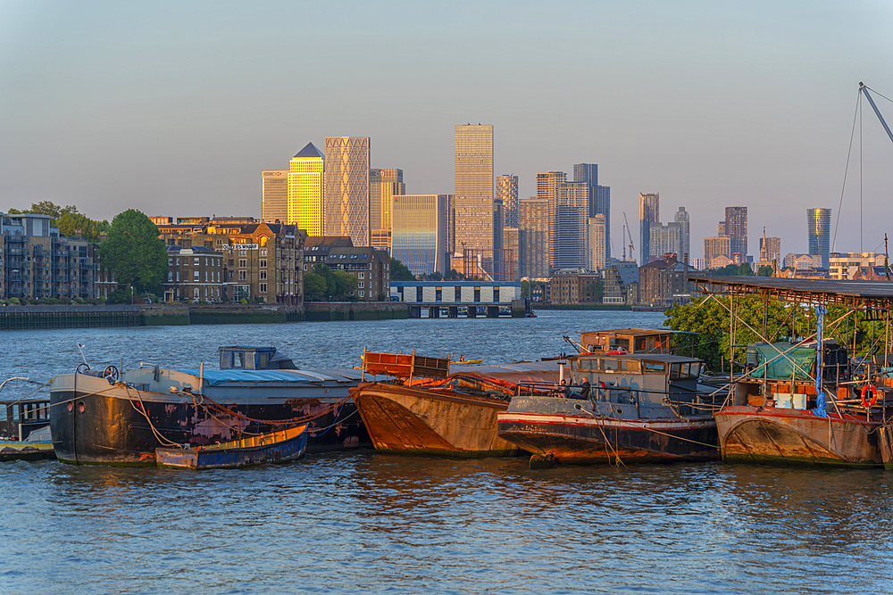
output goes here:
[[167, 251], [158, 237], [158, 227], [140, 211], [129, 209], [115, 216], [108, 239], [99, 244], [99, 256], [119, 284], [139, 292], [160, 293]]

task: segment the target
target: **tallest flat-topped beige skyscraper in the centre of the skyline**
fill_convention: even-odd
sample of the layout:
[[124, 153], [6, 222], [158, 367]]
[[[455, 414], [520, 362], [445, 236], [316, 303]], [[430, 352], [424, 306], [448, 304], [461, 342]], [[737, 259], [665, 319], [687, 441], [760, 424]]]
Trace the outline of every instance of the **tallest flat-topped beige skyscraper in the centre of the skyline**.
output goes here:
[[455, 126], [455, 244], [493, 255], [493, 127]]

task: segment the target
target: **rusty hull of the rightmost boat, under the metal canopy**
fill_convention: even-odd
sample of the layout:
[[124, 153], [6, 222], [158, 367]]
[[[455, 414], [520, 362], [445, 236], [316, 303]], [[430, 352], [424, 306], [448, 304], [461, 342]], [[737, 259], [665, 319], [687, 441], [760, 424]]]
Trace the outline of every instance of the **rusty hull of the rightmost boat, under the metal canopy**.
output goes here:
[[847, 414], [736, 406], [716, 414], [722, 459], [729, 462], [880, 467], [880, 426]]

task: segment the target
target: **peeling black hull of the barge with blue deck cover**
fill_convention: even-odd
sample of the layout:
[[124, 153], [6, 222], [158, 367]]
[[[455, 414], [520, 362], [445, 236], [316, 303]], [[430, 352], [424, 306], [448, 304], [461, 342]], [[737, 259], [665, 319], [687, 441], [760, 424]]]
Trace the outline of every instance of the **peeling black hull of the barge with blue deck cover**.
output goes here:
[[[324, 412], [341, 399], [302, 398], [295, 392], [288, 399], [220, 404], [241, 416], [281, 420]], [[50, 407], [55, 455], [76, 464], [154, 466], [157, 448], [229, 442], [243, 432], [263, 434], [281, 429], [213, 410], [188, 394], [138, 391], [92, 376], [65, 375], [54, 380]], [[309, 451], [370, 445], [351, 401], [308, 424]]]

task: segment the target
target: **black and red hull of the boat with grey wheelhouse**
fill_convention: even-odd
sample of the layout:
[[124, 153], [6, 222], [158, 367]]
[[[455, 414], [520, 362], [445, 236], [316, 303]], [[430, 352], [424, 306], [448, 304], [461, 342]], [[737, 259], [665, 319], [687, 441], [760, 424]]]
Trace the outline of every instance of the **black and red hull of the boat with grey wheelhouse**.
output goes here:
[[719, 459], [712, 419], [639, 420], [507, 411], [499, 436], [560, 463], [602, 465]]

